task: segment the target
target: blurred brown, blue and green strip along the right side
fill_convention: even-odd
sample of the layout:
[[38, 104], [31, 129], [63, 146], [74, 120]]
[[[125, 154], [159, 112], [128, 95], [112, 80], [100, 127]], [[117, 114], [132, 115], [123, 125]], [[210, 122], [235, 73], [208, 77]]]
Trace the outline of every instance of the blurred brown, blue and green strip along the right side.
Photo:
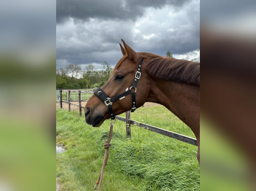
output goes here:
[[201, 190], [255, 190], [255, 1], [201, 1]]

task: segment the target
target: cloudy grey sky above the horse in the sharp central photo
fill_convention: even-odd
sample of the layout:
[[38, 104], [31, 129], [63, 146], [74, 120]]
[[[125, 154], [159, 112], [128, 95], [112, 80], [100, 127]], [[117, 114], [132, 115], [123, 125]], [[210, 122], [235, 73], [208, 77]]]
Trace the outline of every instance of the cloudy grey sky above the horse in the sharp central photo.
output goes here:
[[200, 60], [200, 1], [56, 1], [56, 68], [115, 67], [121, 39], [136, 52]]

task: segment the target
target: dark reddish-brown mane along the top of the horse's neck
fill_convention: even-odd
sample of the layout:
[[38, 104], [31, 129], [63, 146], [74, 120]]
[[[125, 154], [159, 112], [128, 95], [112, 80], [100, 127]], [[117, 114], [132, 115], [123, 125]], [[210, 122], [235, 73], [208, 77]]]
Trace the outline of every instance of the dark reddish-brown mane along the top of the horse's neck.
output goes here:
[[145, 52], [138, 55], [149, 58], [145, 70], [151, 77], [200, 86], [200, 63]]

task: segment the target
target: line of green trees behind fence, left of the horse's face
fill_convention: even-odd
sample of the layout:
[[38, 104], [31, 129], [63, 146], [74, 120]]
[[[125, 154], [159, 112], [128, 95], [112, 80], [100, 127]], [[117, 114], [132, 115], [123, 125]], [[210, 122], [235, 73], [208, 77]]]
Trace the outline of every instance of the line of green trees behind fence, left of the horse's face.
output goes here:
[[103, 70], [94, 65], [84, 69], [76, 64], [68, 64], [56, 69], [56, 89], [89, 89], [103, 86], [109, 79], [113, 68], [104, 62]]

